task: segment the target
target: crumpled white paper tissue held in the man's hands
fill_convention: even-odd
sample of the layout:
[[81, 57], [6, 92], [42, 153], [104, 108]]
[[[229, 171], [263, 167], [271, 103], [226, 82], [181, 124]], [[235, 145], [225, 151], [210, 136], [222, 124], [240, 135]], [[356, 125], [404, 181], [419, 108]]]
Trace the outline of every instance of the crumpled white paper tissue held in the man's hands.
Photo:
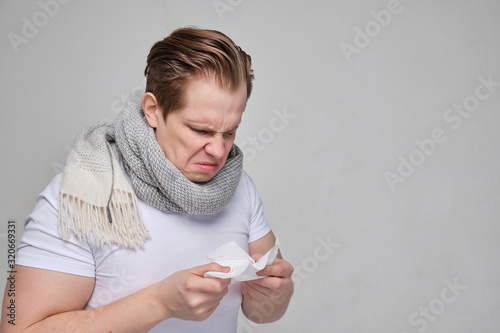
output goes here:
[[231, 278], [231, 283], [261, 279], [264, 276], [255, 273], [264, 269], [266, 265], [272, 265], [276, 262], [279, 245], [278, 239], [276, 239], [276, 244], [259, 261], [255, 262], [235, 241], [231, 241], [207, 256], [211, 262], [231, 267], [231, 271], [227, 273], [207, 272], [204, 276], [221, 279]]

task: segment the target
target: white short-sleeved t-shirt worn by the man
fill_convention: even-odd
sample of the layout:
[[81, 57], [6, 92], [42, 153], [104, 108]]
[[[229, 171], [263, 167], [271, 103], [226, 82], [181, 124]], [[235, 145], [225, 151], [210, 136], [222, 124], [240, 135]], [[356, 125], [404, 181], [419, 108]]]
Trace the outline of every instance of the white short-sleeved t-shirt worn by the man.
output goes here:
[[[130, 295], [174, 272], [206, 264], [206, 255], [236, 241], [248, 243], [269, 231], [255, 185], [243, 172], [231, 201], [216, 215], [163, 213], [138, 200], [142, 218], [152, 237], [144, 249], [116, 245], [98, 248], [91, 239], [75, 235], [62, 240], [57, 231], [57, 196], [61, 175], [38, 196], [25, 221], [16, 262], [76, 275], [95, 277], [95, 288], [86, 308], [97, 308]], [[150, 332], [236, 332], [242, 296], [239, 283], [229, 286], [216, 311], [203, 322], [168, 319]]]

